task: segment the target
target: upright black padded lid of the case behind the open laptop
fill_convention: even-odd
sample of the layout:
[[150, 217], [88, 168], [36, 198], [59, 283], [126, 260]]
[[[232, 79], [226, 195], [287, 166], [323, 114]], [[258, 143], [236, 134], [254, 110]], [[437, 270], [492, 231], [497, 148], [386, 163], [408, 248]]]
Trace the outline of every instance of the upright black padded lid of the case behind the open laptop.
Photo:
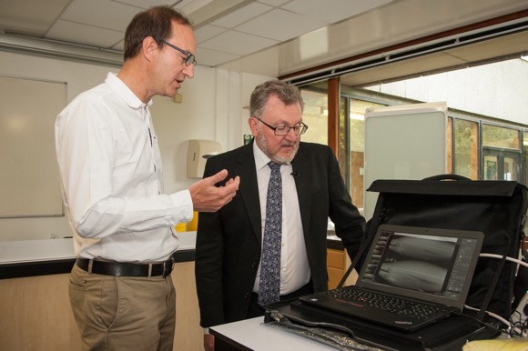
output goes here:
[[[525, 271], [506, 257], [523, 251], [527, 188], [513, 181], [472, 181], [462, 176], [423, 180], [376, 180], [367, 189], [378, 200], [368, 223], [365, 243], [378, 226], [427, 226], [472, 230], [484, 234], [466, 305], [508, 319], [516, 301], [514, 291], [527, 291]], [[517, 274], [519, 273], [519, 274]], [[517, 286], [515, 280], [517, 279]], [[515, 289], [516, 287], [516, 289]]]

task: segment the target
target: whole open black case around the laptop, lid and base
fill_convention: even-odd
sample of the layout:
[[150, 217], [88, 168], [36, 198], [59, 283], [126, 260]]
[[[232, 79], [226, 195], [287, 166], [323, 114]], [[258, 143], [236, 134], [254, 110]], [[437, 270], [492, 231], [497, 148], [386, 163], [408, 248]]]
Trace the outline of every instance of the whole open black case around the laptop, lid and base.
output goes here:
[[[265, 322], [279, 326], [293, 322], [292, 326], [310, 327], [310, 336], [317, 334], [313, 328], [340, 330], [362, 344], [393, 350], [451, 351], [462, 349], [468, 340], [497, 336], [494, 328], [476, 320], [490, 323], [485, 311], [509, 319], [513, 308], [528, 291], [528, 274], [523, 266], [519, 268], [506, 259], [526, 257], [523, 233], [528, 206], [526, 186], [513, 181], [472, 181], [462, 176], [441, 175], [423, 180], [376, 180], [367, 191], [377, 192], [378, 200], [367, 223], [360, 255], [354, 258], [340, 286], [351, 267], [360, 268], [381, 225], [479, 231], [484, 234], [481, 253], [499, 258], [481, 256], [477, 261], [466, 299], [466, 304], [477, 310], [464, 310], [465, 315], [452, 316], [407, 333], [324, 311], [298, 299], [283, 306], [271, 306]], [[323, 337], [328, 340], [328, 336]]]

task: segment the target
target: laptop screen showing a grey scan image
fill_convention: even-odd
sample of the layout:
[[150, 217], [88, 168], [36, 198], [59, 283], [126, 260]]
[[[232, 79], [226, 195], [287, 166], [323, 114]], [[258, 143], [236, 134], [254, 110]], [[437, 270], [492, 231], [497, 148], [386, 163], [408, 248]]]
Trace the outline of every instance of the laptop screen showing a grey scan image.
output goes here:
[[380, 226], [356, 285], [462, 308], [482, 240], [481, 232]]

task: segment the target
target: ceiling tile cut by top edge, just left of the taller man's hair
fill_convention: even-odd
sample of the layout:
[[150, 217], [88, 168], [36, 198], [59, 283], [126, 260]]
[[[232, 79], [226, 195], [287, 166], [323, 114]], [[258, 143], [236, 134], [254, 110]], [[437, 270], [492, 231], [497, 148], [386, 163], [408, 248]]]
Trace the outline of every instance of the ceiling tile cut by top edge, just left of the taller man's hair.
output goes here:
[[61, 18], [125, 33], [132, 17], [141, 10], [136, 6], [108, 0], [74, 0]]

